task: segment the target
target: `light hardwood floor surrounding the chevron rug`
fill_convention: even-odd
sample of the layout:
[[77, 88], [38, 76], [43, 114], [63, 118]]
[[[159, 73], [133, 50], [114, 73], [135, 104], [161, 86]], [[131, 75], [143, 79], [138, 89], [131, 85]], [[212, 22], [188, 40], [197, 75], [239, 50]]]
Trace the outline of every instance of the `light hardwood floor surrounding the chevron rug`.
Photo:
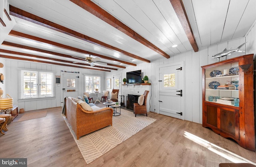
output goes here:
[[238, 155], [256, 163], [256, 152], [198, 123], [150, 112], [148, 117], [157, 119], [154, 123], [87, 165], [61, 107], [36, 111], [43, 110], [48, 111], [46, 117], [17, 122], [20, 114], [8, 125], [9, 131], [0, 135], [1, 158], [27, 158], [28, 167], [218, 167], [219, 163], [232, 163], [217, 145], [232, 153], [225, 156]]

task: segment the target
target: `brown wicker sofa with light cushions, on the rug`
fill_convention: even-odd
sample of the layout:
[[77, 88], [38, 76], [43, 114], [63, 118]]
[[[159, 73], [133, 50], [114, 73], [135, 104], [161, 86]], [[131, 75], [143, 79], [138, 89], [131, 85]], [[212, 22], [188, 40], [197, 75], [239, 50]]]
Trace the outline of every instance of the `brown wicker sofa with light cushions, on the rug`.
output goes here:
[[66, 98], [65, 105], [66, 118], [76, 133], [77, 139], [108, 125], [112, 126], [113, 109], [110, 107], [93, 106], [93, 111], [86, 111], [72, 97]]

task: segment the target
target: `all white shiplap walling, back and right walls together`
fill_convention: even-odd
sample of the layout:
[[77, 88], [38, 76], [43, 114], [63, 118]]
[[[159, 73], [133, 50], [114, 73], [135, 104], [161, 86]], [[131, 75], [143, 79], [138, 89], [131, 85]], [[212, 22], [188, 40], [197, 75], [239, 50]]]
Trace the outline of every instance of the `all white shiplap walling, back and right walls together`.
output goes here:
[[[208, 46], [205, 48], [200, 48], [199, 52], [189, 51], [184, 52], [182, 54], [177, 54], [174, 56], [170, 56], [169, 59], [161, 58], [155, 61], [152, 61], [150, 64], [142, 63], [138, 64], [136, 67], [129, 66], [124, 70], [118, 70], [114, 72], [97, 72], [92, 70], [84, 70], [78, 68], [68, 68], [62, 66], [54, 66], [54, 65], [46, 65], [34, 62], [26, 62], [26, 61], [16, 61], [0, 58], [0, 62], [4, 63], [4, 68], [0, 69], [0, 72], [5, 73], [6, 76], [4, 84], [1, 84], [2, 89], [4, 89], [4, 94], [8, 93], [12, 95], [14, 98], [14, 104], [19, 105], [19, 108], [24, 108], [25, 111], [34, 110], [34, 109], [43, 109], [49, 107], [58, 107], [61, 106], [60, 102], [62, 101], [61, 97], [61, 89], [62, 86], [56, 87], [56, 98], [49, 100], [38, 100], [38, 101], [26, 101], [26, 102], [18, 102], [18, 68], [29, 68], [29, 69], [38, 69], [38, 70], [50, 70], [55, 71], [56, 75], [60, 75], [60, 70], [66, 71], [79, 71], [81, 82], [79, 83], [79, 94], [82, 94], [84, 91], [83, 74], [97, 74], [102, 76], [102, 87], [104, 90], [106, 88], [106, 78], [111, 78], [111, 89], [108, 89], [110, 92], [113, 89], [113, 76], [116, 74], [121, 75], [121, 84], [122, 78], [126, 77], [126, 72], [134, 71], [134, 70], [142, 70], [144, 76], [147, 75], [149, 77], [149, 82], [151, 85], [151, 97], [150, 97], [150, 111], [154, 111], [156, 109], [157, 103], [157, 87], [156, 87], [156, 67], [163, 64], [170, 64], [173, 62], [184, 62], [184, 74], [185, 74], [185, 115], [184, 119], [188, 121], [193, 121], [196, 123], [202, 123], [202, 69], [201, 66], [211, 64], [214, 62], [218, 62], [217, 59], [212, 59], [211, 56], [222, 52], [225, 48], [236, 48], [240, 46], [244, 42], [245, 46], [241, 48], [241, 50], [245, 50], [245, 53], [233, 53], [231, 56], [227, 58], [234, 58], [237, 56], [241, 56], [244, 54], [255, 54], [256, 53], [256, 26], [252, 26], [251, 30], [248, 32], [247, 36], [244, 38], [239, 38], [236, 40], [223, 42], [220, 44], [216, 44], [213, 46]], [[221, 59], [222, 60], [222, 59]], [[122, 95], [122, 86], [120, 87], [120, 93]], [[109, 94], [110, 96], [110, 94]], [[120, 100], [120, 97], [119, 97]]]

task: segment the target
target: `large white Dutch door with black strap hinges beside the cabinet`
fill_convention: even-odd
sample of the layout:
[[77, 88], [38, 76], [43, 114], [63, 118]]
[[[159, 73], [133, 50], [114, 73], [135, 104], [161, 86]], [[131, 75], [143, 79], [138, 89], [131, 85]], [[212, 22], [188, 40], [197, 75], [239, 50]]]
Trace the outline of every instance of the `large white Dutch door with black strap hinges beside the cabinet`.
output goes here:
[[158, 111], [160, 114], [184, 119], [183, 62], [159, 67]]

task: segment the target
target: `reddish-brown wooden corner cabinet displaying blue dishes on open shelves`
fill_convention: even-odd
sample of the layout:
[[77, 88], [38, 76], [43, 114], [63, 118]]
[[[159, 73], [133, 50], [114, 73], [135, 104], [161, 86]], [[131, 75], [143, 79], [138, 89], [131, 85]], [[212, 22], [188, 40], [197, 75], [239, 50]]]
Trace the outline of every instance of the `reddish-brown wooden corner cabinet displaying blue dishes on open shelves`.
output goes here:
[[[252, 64], [247, 72], [239, 67], [244, 64]], [[202, 66], [202, 123], [222, 137], [234, 139], [241, 147], [256, 151], [253, 64], [253, 54], [249, 54]], [[225, 69], [234, 67], [239, 67], [238, 74], [211, 77], [214, 70], [224, 74]], [[224, 85], [232, 80], [239, 81], [238, 90], [212, 89], [212, 83]], [[239, 106], [209, 101], [209, 95], [239, 98]]]

